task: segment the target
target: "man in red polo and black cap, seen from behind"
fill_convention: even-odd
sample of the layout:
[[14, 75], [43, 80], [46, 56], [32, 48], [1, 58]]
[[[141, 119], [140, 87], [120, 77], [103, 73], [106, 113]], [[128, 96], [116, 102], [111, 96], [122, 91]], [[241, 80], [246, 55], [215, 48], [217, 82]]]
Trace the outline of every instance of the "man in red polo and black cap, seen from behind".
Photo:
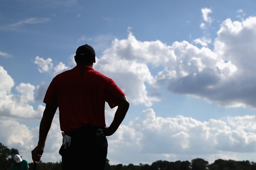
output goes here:
[[[114, 134], [122, 123], [129, 102], [116, 83], [95, 71], [95, 51], [82, 45], [74, 56], [76, 67], [60, 73], [50, 83], [40, 123], [38, 145], [32, 150], [32, 160], [38, 164], [52, 119], [59, 108], [63, 144], [59, 150], [62, 169], [104, 170], [108, 143], [106, 136]], [[110, 108], [118, 106], [109, 127], [105, 124], [105, 102]]]

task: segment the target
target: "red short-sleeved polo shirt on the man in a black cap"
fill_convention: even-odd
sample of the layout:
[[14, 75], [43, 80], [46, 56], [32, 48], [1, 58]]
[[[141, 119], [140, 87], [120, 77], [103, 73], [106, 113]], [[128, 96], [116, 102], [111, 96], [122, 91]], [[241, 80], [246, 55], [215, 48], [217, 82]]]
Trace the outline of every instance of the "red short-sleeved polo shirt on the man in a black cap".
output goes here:
[[105, 127], [105, 102], [116, 107], [115, 101], [123, 95], [112, 79], [78, 65], [54, 77], [44, 103], [59, 107], [60, 129], [70, 131], [86, 124]]

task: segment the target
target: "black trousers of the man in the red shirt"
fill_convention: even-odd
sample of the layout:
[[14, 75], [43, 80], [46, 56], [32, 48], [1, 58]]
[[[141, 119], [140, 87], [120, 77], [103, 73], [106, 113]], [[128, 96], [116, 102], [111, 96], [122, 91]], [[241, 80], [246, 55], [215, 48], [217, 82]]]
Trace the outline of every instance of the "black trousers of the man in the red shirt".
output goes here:
[[65, 132], [71, 136], [70, 146], [61, 146], [62, 170], [104, 170], [108, 142], [103, 131], [84, 127]]

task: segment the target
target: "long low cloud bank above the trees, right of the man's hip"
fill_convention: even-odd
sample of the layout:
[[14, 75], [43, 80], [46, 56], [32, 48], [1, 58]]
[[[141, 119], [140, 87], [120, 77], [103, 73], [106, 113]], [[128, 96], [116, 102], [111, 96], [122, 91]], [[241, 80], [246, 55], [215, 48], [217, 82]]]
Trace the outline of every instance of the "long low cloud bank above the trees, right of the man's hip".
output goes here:
[[254, 129], [236, 126], [252, 122], [249, 117], [256, 118], [228, 117], [225, 121], [202, 122], [182, 115], [157, 117], [153, 109], [147, 109], [108, 138], [108, 157], [114, 163], [126, 164], [130, 163], [127, 156], [135, 156], [137, 164], [145, 160], [190, 160], [191, 156], [211, 161], [230, 156], [238, 159], [231, 153], [256, 151]]

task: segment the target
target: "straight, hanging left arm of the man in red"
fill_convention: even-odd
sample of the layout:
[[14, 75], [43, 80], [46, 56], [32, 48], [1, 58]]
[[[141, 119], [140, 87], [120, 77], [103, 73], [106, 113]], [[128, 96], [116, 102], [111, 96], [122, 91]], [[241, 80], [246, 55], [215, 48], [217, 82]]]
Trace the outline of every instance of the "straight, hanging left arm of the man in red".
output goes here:
[[36, 164], [39, 163], [44, 152], [46, 137], [52, 125], [52, 120], [54, 118], [56, 110], [57, 107], [52, 107], [46, 104], [44, 114], [40, 122], [38, 145], [36, 146], [36, 148], [34, 148], [34, 150], [31, 151], [32, 160]]

